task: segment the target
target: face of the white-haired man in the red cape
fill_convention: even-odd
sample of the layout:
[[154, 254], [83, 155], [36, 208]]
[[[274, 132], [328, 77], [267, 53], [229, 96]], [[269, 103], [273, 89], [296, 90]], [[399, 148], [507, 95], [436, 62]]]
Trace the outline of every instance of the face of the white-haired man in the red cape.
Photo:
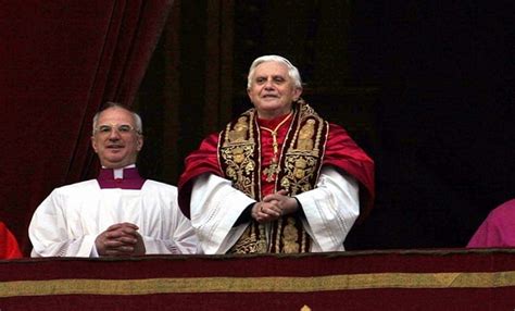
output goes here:
[[291, 111], [302, 89], [294, 86], [286, 64], [268, 61], [255, 67], [247, 92], [260, 117], [274, 119]]

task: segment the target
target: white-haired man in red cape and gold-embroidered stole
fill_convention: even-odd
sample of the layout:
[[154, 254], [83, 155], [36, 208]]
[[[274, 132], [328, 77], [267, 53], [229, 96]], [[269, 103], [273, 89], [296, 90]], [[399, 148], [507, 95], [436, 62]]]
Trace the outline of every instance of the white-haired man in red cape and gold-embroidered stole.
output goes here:
[[247, 91], [254, 108], [206, 137], [179, 179], [200, 252], [344, 250], [372, 208], [373, 160], [301, 99], [287, 59], [254, 60]]

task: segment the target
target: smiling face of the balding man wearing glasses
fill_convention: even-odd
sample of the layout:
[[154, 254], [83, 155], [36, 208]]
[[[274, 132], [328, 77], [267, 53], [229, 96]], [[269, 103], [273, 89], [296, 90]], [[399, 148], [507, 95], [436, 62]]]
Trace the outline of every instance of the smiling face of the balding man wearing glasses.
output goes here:
[[128, 110], [115, 107], [100, 113], [91, 145], [102, 166], [121, 169], [136, 163], [143, 137], [135, 128], [134, 115]]

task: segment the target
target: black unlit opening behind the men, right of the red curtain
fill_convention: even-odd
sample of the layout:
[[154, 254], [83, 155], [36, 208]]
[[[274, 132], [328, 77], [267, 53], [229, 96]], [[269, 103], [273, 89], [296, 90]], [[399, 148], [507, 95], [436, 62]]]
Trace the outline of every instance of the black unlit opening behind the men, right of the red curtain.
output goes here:
[[[250, 108], [248, 67], [277, 53], [299, 67], [304, 98], [376, 161], [376, 207], [348, 249], [463, 247], [513, 198], [513, 2], [180, 2], [139, 94], [143, 117], [162, 126], [141, 158], [152, 175], [176, 183], [183, 163], [166, 159]], [[174, 82], [162, 78], [171, 58]], [[171, 85], [179, 95], [156, 113]], [[172, 127], [158, 121], [168, 113]], [[175, 126], [163, 153], [161, 130]]]

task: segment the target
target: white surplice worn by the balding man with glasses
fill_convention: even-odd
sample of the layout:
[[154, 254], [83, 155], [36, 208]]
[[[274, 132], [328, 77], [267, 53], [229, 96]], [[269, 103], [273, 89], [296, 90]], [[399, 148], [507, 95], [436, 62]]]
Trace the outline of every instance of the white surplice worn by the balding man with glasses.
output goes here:
[[140, 190], [101, 189], [90, 179], [54, 189], [37, 208], [28, 229], [32, 257], [96, 257], [97, 236], [123, 222], [139, 227], [147, 254], [197, 250], [176, 187], [147, 179]]

